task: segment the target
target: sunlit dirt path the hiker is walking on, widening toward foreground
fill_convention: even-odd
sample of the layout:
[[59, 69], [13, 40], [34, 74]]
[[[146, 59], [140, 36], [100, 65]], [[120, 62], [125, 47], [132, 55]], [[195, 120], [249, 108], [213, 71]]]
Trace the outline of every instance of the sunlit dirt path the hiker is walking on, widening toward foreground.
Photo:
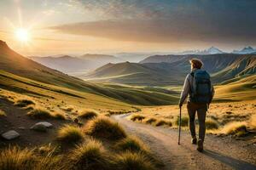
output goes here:
[[205, 151], [200, 153], [196, 145], [190, 144], [188, 132], [182, 132], [181, 145], [177, 145], [177, 130], [131, 122], [125, 116], [113, 118], [128, 133], [143, 139], [165, 163], [166, 169], [256, 169], [256, 146], [253, 144], [207, 135]]

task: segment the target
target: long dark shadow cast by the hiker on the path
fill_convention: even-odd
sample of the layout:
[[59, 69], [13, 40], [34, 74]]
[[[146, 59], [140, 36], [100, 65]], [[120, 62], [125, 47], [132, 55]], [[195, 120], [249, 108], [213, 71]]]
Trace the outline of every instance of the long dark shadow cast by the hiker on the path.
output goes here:
[[214, 152], [212, 150], [205, 150], [204, 154], [206, 156], [212, 157], [215, 160], [221, 161], [226, 165], [229, 165], [233, 169], [237, 169], [237, 170], [238, 169], [239, 170], [241, 170], [241, 169], [246, 169], [246, 170], [256, 169], [255, 165], [253, 165], [247, 161], [241, 161], [241, 160], [237, 160], [230, 156], [224, 156], [224, 155]]

